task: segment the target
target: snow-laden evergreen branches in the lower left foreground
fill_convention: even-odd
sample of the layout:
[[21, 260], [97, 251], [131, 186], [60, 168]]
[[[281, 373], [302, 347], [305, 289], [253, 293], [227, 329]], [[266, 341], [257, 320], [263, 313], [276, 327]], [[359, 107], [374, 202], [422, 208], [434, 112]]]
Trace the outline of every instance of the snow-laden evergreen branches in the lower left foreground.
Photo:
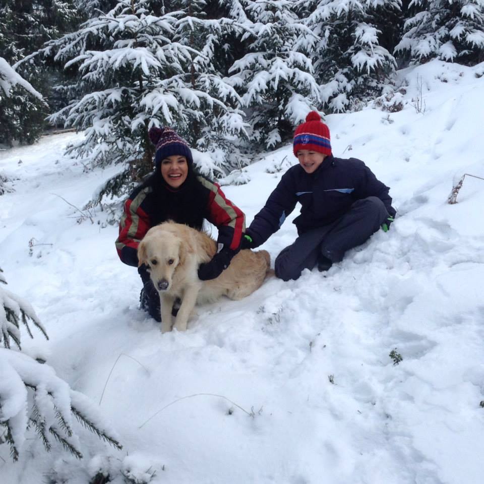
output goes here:
[[[0, 282], [6, 284], [2, 269]], [[77, 458], [82, 458], [79, 439], [74, 434], [74, 415], [82, 426], [95, 433], [117, 449], [121, 449], [117, 437], [102, 421], [97, 408], [82, 393], [55, 375], [43, 360], [11, 349], [13, 341], [21, 349], [20, 320], [30, 337], [30, 320], [48, 339], [31, 305], [16, 294], [0, 286], [0, 445], [7, 443], [14, 461], [20, 456], [26, 433], [33, 428], [47, 451], [52, 441]]]

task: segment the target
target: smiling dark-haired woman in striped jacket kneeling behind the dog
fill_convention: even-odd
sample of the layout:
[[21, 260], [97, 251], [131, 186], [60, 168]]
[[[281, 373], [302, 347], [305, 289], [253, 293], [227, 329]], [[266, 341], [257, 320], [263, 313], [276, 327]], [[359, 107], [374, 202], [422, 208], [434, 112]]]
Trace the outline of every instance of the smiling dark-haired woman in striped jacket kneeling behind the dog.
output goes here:
[[[216, 183], [196, 173], [189, 146], [172, 129], [151, 128], [149, 136], [156, 146], [155, 170], [125, 202], [116, 239], [119, 258], [137, 267], [140, 240], [161, 222], [174, 220], [202, 230], [207, 219], [218, 228], [219, 251], [210, 262], [200, 265], [198, 276], [215, 279], [239, 250], [244, 213], [225, 198]], [[143, 281], [141, 309], [161, 321], [158, 291], [144, 265], [138, 272]]]

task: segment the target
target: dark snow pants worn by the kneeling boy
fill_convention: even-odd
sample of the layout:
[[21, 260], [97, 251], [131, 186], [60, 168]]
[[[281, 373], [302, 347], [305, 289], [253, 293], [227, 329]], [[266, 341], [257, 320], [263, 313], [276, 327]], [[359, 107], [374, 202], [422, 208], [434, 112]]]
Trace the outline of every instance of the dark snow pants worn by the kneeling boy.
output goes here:
[[297, 279], [304, 269], [313, 269], [322, 256], [340, 262], [347, 250], [368, 240], [388, 216], [378, 197], [357, 200], [338, 220], [301, 234], [283, 249], [274, 262], [276, 276], [284, 281]]

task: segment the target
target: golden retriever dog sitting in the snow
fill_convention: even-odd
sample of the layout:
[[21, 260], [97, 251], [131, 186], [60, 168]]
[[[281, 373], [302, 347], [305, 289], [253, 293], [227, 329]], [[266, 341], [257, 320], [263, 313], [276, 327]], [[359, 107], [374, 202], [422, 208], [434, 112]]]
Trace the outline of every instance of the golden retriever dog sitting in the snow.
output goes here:
[[163, 333], [171, 330], [171, 309], [177, 297], [181, 306], [173, 327], [185, 331], [195, 304], [213, 302], [222, 295], [242, 299], [262, 285], [270, 267], [267, 251], [240, 251], [220, 276], [201, 281], [199, 265], [209, 262], [216, 252], [217, 243], [209, 235], [172, 221], [150, 228], [141, 240], [139, 265], [146, 264], [160, 294]]

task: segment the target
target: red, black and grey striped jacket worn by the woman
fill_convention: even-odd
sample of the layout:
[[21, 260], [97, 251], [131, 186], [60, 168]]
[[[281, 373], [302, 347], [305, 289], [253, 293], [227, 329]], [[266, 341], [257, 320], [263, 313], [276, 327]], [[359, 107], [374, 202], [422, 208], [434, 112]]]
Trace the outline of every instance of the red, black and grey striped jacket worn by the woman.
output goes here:
[[238, 249], [245, 231], [245, 215], [225, 197], [219, 185], [190, 173], [185, 183], [173, 190], [154, 174], [125, 202], [116, 239], [119, 258], [125, 264], [138, 266], [141, 239], [161, 222], [173, 220], [202, 230], [204, 219], [217, 227], [219, 244]]

